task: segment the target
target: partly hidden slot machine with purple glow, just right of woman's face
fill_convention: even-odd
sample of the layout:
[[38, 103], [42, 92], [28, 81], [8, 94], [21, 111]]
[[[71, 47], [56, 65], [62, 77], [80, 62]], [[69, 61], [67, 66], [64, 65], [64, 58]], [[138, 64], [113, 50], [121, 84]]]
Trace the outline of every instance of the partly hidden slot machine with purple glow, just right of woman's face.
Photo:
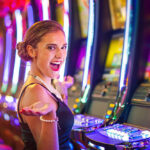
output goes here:
[[88, 0], [72, 1], [71, 22], [72, 34], [67, 74], [74, 77], [74, 84], [68, 91], [68, 105], [75, 112], [80, 112], [82, 79], [85, 55], [87, 50], [89, 2]]

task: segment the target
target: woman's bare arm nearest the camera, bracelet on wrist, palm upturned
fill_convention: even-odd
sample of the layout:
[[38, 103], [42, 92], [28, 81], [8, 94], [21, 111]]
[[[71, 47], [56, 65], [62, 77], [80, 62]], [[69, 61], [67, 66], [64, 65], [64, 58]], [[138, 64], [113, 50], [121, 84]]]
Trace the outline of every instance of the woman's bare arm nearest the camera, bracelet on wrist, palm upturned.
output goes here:
[[44, 122], [43, 119], [56, 119], [57, 103], [51, 95], [40, 85], [30, 87], [23, 96], [23, 108], [21, 110], [24, 122], [26, 122], [33, 134], [38, 150], [59, 150], [57, 121]]

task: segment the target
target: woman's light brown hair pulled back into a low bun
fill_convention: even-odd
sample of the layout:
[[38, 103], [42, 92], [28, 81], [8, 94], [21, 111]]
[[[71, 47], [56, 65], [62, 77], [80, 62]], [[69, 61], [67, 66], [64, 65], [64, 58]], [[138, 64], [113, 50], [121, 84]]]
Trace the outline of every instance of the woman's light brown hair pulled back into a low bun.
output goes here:
[[37, 44], [45, 34], [55, 31], [62, 31], [64, 33], [62, 26], [56, 21], [44, 20], [36, 22], [27, 30], [24, 41], [17, 44], [18, 55], [25, 61], [32, 60], [26, 50], [27, 45], [36, 48]]

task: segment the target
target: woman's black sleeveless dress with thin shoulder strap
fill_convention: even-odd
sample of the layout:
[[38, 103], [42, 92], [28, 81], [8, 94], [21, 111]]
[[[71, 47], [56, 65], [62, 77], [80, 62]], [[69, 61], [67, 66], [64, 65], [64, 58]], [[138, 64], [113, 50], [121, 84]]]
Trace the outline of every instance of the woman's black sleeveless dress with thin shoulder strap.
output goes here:
[[[40, 84], [40, 83], [31, 83], [27, 85], [22, 93], [21, 96], [18, 100], [18, 115], [21, 119], [20, 125], [21, 125], [21, 132], [22, 132], [22, 139], [25, 144], [24, 150], [36, 150], [36, 142], [33, 138], [33, 135], [28, 127], [27, 123], [23, 122], [23, 119], [19, 113], [19, 105], [20, 105], [20, 100], [25, 92], [26, 88], [32, 84]], [[46, 90], [48, 90], [45, 86], [40, 84], [42, 87], [44, 87]], [[49, 90], [48, 90], [49, 91]], [[50, 92], [50, 91], [49, 91]], [[50, 92], [51, 93], [51, 92]], [[60, 150], [69, 150], [69, 140], [70, 140], [70, 132], [74, 123], [74, 117], [68, 106], [62, 102], [59, 98], [56, 97], [55, 94], [51, 93], [57, 100], [58, 104], [58, 109], [56, 111], [56, 115], [59, 119], [58, 121], [58, 138], [59, 138], [59, 149]], [[49, 137], [51, 138], [51, 137]]]

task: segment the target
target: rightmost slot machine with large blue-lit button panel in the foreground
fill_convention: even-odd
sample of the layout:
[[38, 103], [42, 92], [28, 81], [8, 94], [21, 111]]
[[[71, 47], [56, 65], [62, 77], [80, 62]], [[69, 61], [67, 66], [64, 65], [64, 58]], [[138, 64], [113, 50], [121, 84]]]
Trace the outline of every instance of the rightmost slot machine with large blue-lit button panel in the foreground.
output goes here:
[[[94, 149], [150, 149], [149, 120], [149, 16], [150, 2], [127, 1], [130, 10], [137, 10], [134, 35], [128, 45], [130, 56], [124, 80], [123, 93], [116, 105], [116, 111], [109, 125], [85, 135], [88, 145]], [[135, 15], [135, 16], [134, 16]], [[133, 17], [134, 16], [134, 17]], [[132, 23], [131, 23], [132, 24]], [[129, 33], [132, 32], [129, 30]], [[121, 75], [123, 73], [123, 66]], [[121, 83], [120, 78], [120, 85]]]

